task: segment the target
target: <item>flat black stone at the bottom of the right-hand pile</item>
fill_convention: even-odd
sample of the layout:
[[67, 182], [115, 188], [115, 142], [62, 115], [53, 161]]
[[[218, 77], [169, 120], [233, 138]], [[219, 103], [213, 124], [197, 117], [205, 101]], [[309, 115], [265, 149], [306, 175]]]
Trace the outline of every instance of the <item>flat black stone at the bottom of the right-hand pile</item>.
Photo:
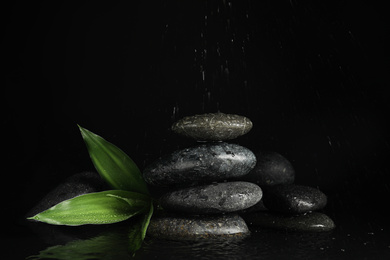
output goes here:
[[249, 213], [244, 216], [249, 225], [263, 228], [284, 229], [292, 231], [330, 231], [335, 228], [332, 219], [319, 212], [311, 212], [303, 215], [286, 216], [270, 212]]

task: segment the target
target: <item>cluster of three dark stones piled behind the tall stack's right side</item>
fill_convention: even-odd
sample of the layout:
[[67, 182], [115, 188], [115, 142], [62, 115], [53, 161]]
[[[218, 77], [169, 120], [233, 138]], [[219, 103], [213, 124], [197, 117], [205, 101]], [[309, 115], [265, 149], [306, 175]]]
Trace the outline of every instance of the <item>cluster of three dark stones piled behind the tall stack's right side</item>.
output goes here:
[[335, 227], [327, 215], [315, 212], [326, 206], [326, 195], [316, 188], [294, 184], [295, 171], [286, 158], [276, 152], [261, 152], [256, 157], [255, 168], [244, 179], [258, 184], [264, 195], [244, 214], [248, 223], [295, 231]]

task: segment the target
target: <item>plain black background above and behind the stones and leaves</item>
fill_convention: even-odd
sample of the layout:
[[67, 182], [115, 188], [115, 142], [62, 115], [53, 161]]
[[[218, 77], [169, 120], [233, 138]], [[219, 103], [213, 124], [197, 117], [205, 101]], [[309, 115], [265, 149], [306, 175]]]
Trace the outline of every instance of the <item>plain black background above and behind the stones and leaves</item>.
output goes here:
[[192, 144], [170, 132], [172, 122], [217, 111], [249, 117], [253, 130], [234, 142], [288, 158], [296, 183], [329, 196], [333, 217], [384, 219], [384, 10], [379, 1], [47, 1], [2, 8], [2, 178], [11, 190], [3, 200], [13, 234], [24, 232], [23, 214], [50, 189], [93, 169], [76, 124], [142, 169]]

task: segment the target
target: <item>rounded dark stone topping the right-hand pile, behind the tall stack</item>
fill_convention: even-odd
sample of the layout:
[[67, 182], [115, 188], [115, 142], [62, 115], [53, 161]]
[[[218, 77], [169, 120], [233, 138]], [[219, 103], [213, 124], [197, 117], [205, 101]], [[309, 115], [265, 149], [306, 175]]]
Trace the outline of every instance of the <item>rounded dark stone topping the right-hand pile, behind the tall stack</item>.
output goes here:
[[294, 183], [294, 168], [282, 155], [276, 152], [259, 152], [256, 153], [256, 159], [256, 166], [242, 180], [261, 187]]

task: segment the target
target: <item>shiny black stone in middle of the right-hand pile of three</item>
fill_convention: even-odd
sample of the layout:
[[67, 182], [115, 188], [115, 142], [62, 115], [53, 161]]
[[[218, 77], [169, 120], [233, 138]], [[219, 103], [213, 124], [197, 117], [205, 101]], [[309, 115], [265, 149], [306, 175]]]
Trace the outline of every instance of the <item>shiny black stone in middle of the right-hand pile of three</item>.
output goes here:
[[319, 210], [327, 203], [326, 195], [320, 190], [302, 185], [276, 185], [265, 187], [264, 205], [271, 211], [302, 214]]

